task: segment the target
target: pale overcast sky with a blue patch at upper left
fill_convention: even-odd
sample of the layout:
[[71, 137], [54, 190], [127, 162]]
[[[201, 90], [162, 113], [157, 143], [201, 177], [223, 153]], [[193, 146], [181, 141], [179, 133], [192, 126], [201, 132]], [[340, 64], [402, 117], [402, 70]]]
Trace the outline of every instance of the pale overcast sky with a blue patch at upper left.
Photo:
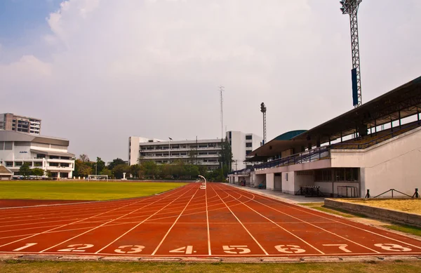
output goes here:
[[[421, 1], [364, 0], [363, 102], [421, 75]], [[352, 109], [337, 0], [1, 0], [0, 112], [69, 152], [128, 159], [128, 137], [268, 140]]]

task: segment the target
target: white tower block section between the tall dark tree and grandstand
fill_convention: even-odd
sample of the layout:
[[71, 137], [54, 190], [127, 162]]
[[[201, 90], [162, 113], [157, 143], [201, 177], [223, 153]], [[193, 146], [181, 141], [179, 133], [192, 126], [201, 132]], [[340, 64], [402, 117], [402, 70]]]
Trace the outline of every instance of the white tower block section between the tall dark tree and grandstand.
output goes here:
[[248, 154], [262, 145], [263, 138], [253, 133], [228, 131], [227, 139], [232, 150], [232, 171], [246, 168], [243, 162], [248, 159]]

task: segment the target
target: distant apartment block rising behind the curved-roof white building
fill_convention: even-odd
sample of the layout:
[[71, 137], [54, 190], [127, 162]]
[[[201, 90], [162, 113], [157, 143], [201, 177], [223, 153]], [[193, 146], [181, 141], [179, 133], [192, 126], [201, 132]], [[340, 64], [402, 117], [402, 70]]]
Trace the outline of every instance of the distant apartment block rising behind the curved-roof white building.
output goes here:
[[0, 114], [0, 129], [39, 135], [41, 133], [41, 119], [4, 113]]

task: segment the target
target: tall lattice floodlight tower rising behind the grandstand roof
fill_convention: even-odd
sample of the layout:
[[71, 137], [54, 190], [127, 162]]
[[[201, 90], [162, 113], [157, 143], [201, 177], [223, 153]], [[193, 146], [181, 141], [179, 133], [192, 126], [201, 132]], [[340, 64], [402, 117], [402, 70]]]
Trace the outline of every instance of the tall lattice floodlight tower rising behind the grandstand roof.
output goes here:
[[361, 72], [359, 62], [359, 39], [358, 39], [358, 13], [359, 4], [362, 0], [342, 0], [340, 11], [342, 14], [349, 14], [351, 25], [351, 47], [352, 47], [352, 102], [354, 107], [359, 107], [363, 103], [361, 96]]

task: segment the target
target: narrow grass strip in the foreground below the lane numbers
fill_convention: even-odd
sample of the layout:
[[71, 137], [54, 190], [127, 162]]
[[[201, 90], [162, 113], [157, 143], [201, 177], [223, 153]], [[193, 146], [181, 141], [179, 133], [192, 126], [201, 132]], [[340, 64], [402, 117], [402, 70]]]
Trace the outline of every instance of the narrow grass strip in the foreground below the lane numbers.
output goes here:
[[195, 262], [54, 262], [54, 261], [0, 261], [2, 273], [34, 272], [206, 272], [206, 273], [267, 273], [267, 272], [421, 272], [421, 260], [393, 262], [300, 262], [300, 263], [195, 263]]

